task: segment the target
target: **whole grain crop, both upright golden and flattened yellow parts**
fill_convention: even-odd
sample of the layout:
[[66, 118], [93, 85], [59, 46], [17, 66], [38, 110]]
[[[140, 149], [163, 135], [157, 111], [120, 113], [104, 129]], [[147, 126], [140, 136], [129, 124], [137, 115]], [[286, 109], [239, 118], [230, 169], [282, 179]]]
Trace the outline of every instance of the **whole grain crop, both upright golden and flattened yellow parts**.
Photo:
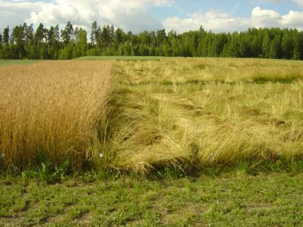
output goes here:
[[0, 161], [145, 175], [302, 160], [302, 69], [228, 58], [1, 67]]

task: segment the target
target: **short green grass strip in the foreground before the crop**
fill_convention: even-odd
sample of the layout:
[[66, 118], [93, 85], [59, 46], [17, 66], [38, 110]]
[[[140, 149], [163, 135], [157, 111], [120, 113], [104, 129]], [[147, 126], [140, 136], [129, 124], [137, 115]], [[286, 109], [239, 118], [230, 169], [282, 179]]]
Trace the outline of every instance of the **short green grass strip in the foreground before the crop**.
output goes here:
[[175, 180], [0, 178], [0, 226], [301, 226], [303, 175]]

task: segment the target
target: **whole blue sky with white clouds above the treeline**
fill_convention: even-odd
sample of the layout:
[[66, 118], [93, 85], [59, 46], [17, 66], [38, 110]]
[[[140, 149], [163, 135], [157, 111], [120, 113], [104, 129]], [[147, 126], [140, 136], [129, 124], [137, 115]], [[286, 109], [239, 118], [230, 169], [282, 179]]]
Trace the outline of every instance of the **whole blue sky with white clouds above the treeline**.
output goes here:
[[164, 27], [177, 32], [204, 29], [232, 32], [247, 27], [295, 27], [303, 30], [303, 0], [0, 0], [0, 30], [9, 25], [67, 21], [113, 24], [142, 32]]

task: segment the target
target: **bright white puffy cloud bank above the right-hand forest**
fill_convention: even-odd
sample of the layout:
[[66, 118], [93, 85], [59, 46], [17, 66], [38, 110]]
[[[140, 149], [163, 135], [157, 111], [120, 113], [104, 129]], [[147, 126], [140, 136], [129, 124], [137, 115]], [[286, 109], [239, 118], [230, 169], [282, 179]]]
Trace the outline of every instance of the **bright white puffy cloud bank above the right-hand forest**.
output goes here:
[[166, 29], [174, 29], [177, 32], [199, 29], [201, 25], [204, 29], [214, 32], [241, 31], [248, 27], [292, 27], [303, 30], [303, 11], [291, 10], [288, 14], [281, 15], [274, 10], [263, 10], [257, 6], [252, 10], [251, 17], [209, 11], [205, 14], [190, 14], [185, 19], [169, 17], [162, 24]]

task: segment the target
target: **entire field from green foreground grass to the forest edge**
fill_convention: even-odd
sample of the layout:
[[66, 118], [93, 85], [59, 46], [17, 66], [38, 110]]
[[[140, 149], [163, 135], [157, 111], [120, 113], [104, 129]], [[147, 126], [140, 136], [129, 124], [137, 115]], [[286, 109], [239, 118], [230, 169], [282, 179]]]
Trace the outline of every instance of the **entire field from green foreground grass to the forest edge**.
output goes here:
[[92, 60], [0, 67], [0, 226], [303, 224], [303, 62]]

